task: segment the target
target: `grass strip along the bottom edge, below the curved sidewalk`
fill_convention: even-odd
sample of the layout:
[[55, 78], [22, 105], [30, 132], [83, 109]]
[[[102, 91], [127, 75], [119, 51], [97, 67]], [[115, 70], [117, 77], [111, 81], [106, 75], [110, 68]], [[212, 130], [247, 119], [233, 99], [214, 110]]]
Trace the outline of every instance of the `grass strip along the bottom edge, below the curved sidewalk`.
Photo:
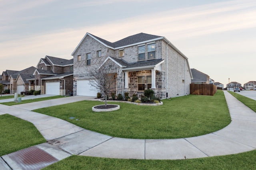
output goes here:
[[44, 170], [254, 170], [256, 150], [240, 154], [186, 160], [136, 160], [70, 156]]

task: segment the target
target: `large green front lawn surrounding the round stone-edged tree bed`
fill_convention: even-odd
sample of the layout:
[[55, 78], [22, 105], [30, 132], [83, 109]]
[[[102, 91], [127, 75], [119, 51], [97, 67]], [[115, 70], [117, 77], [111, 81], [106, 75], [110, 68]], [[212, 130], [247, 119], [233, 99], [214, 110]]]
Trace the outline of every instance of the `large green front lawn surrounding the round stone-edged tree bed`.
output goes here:
[[162, 102], [162, 106], [118, 103], [120, 109], [117, 111], [94, 112], [92, 107], [102, 102], [82, 101], [34, 111], [64, 119], [91, 131], [132, 139], [199, 136], [218, 131], [231, 121], [221, 90], [214, 96], [188, 95]]

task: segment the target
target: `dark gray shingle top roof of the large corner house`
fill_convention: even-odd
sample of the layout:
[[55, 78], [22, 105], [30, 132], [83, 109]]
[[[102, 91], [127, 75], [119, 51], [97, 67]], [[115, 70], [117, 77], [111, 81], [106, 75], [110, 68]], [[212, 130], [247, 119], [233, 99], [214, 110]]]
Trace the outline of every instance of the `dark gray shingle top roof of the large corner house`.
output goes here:
[[[92, 35], [92, 34], [90, 34]], [[146, 33], [138, 33], [138, 34], [135, 34], [135, 35], [131, 35], [129, 37], [126, 37], [124, 39], [121, 39], [119, 41], [116, 41], [114, 43], [111, 43], [109, 41], [106, 41], [100, 37], [97, 37], [95, 35], [92, 35], [94, 36], [96, 39], [98, 39], [99, 41], [101, 41], [102, 43], [110, 46], [110, 47], [113, 47], [113, 48], [117, 48], [117, 47], [122, 47], [122, 46], [126, 46], [126, 45], [131, 45], [131, 44], [135, 44], [135, 43], [140, 43], [140, 42], [143, 42], [143, 41], [148, 41], [150, 39], [156, 39], [156, 38], [160, 38], [162, 36], [158, 36], [158, 35], [151, 35], [151, 34], [146, 34]]]

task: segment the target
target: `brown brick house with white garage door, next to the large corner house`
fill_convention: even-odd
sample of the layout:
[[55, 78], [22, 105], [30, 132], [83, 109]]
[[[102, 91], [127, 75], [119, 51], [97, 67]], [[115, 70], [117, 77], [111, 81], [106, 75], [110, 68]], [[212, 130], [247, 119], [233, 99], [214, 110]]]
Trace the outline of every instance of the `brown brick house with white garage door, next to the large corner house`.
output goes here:
[[66, 95], [73, 90], [73, 59], [45, 56], [40, 59], [34, 77], [27, 79], [41, 94]]

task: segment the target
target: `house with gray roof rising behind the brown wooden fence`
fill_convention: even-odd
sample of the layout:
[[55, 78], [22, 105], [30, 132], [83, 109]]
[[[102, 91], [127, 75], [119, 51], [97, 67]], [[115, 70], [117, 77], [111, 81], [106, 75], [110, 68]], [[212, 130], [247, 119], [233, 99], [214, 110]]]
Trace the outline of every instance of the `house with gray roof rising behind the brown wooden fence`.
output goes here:
[[193, 76], [193, 79], [191, 80], [192, 84], [210, 84], [210, 76], [196, 70], [195, 68], [191, 68], [190, 70]]

